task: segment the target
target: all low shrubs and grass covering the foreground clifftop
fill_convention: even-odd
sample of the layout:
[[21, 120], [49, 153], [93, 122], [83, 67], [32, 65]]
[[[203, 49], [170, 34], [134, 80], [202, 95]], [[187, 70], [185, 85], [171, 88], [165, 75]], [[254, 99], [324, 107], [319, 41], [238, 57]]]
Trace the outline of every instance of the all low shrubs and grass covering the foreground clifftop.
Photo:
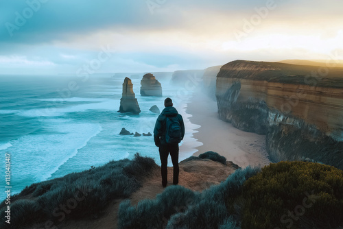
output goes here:
[[[202, 155], [223, 161], [214, 152]], [[12, 197], [11, 224], [0, 221], [0, 228], [26, 228], [37, 222], [54, 228], [64, 219], [97, 218], [111, 200], [137, 191], [152, 169], [158, 169], [152, 158], [136, 154], [134, 160], [32, 184]], [[4, 202], [0, 208], [4, 218]], [[237, 169], [202, 193], [168, 186], [154, 200], [137, 206], [124, 200], [113, 214], [118, 214], [120, 229], [336, 229], [343, 226], [342, 212], [342, 170], [314, 162], [279, 162], [263, 169]]]

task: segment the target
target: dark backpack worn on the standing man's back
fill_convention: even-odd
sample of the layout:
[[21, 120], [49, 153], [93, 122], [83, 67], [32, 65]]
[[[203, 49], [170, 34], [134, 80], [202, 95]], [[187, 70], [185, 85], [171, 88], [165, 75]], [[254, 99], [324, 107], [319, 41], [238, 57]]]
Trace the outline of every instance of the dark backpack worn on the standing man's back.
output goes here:
[[165, 119], [165, 141], [167, 143], [180, 143], [182, 140], [181, 125], [178, 117], [166, 117]]

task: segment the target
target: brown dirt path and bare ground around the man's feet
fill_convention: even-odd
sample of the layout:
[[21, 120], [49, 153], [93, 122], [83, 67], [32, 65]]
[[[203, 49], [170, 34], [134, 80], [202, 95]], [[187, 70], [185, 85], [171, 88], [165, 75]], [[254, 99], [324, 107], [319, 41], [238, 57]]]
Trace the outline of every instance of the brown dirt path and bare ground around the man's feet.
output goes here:
[[[222, 165], [220, 162], [214, 162], [212, 160], [191, 160], [188, 162], [180, 162], [180, 174], [179, 185], [185, 186], [187, 189], [193, 191], [202, 191], [208, 189], [213, 184], [220, 184], [220, 182], [226, 180], [228, 176], [237, 168], [231, 162], [227, 162], [227, 165]], [[168, 184], [172, 184], [173, 168], [168, 167]], [[152, 176], [147, 178], [143, 182], [141, 189], [132, 193], [130, 197], [131, 204], [137, 204], [144, 199], [154, 199], [158, 193], [162, 193], [163, 190], [161, 184], [161, 171], [160, 167], [156, 167], [152, 170]], [[95, 219], [82, 219], [82, 220], [69, 220], [64, 224], [58, 226], [58, 228], [65, 229], [112, 229], [117, 228], [118, 217], [117, 212], [119, 204], [123, 199], [117, 199], [110, 202], [108, 207], [104, 209], [104, 212], [97, 216]]]

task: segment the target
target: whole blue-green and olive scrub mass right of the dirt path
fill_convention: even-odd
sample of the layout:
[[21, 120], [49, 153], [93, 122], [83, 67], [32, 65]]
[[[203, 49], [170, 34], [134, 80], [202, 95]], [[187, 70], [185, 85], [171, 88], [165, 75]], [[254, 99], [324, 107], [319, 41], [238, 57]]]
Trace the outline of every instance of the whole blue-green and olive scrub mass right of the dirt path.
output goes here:
[[279, 162], [238, 169], [202, 193], [169, 186], [137, 206], [122, 202], [118, 228], [329, 229], [342, 226], [342, 212], [342, 170]]

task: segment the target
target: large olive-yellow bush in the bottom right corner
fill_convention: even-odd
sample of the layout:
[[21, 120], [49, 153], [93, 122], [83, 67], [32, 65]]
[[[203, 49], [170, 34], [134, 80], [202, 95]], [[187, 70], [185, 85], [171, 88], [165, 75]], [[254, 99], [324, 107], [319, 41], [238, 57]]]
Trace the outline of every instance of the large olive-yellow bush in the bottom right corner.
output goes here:
[[336, 228], [343, 222], [343, 171], [314, 162], [271, 164], [244, 184], [242, 197], [242, 228]]

